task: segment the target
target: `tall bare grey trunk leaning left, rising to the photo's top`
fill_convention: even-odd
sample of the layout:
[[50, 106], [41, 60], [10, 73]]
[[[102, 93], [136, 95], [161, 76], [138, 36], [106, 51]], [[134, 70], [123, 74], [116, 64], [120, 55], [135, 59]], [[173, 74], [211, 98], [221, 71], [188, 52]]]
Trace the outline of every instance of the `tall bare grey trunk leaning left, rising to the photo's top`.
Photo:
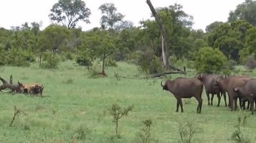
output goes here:
[[164, 25], [162, 23], [162, 20], [161, 18], [157, 15], [157, 12], [155, 10], [155, 8], [153, 7], [152, 3], [150, 0], [146, 0], [146, 3], [147, 5], [150, 7], [150, 10], [153, 14], [153, 16], [155, 17], [156, 21], [157, 21], [157, 25], [158, 25], [158, 28], [162, 34], [162, 54], [163, 54], [163, 65], [164, 65], [164, 68], [165, 69], [168, 69], [169, 68], [169, 61], [168, 61], [168, 53], [167, 53], [167, 34], [166, 34], [166, 31], [165, 31], [165, 28], [164, 28]]

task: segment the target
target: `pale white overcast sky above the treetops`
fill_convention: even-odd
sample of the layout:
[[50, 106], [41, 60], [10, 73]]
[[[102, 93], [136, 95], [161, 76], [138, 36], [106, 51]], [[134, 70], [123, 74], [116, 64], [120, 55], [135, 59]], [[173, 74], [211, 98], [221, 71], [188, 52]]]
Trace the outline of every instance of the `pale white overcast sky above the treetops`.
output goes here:
[[[124, 20], [131, 20], [135, 25], [142, 19], [148, 19], [151, 11], [145, 0], [83, 0], [91, 10], [90, 22], [79, 22], [83, 30], [99, 26], [101, 17], [99, 6], [103, 3], [114, 3], [117, 10], [124, 14]], [[58, 0], [1, 0], [0, 27], [20, 26], [25, 22], [42, 21], [42, 28], [51, 23], [48, 14]], [[174, 3], [182, 4], [183, 10], [194, 17], [195, 29], [205, 30], [206, 25], [214, 21], [227, 21], [230, 10], [244, 0], [151, 0], [153, 6], [167, 7]]]

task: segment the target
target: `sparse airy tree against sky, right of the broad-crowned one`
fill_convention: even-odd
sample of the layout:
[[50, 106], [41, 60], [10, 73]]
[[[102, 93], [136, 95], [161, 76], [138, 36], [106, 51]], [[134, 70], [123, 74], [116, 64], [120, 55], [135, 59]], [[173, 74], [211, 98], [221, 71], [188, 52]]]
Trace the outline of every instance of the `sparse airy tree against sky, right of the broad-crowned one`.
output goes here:
[[101, 11], [100, 23], [104, 25], [104, 27], [110, 27], [114, 29], [118, 22], [122, 21], [124, 15], [117, 12], [115, 4], [113, 3], [105, 3], [99, 7]]

